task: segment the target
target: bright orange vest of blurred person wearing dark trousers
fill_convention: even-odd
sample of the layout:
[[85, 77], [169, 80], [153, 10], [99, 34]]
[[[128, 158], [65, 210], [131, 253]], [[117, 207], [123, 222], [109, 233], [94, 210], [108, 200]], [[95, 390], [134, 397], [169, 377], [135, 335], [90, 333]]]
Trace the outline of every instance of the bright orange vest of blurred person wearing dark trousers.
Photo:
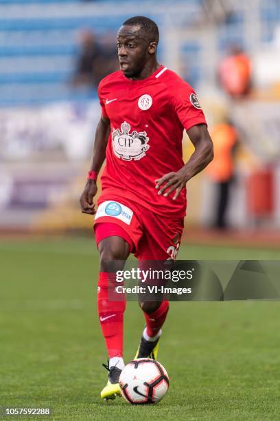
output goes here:
[[214, 146], [214, 159], [207, 166], [207, 175], [214, 182], [231, 180], [234, 172], [233, 147], [237, 131], [229, 124], [215, 125], [210, 131]]

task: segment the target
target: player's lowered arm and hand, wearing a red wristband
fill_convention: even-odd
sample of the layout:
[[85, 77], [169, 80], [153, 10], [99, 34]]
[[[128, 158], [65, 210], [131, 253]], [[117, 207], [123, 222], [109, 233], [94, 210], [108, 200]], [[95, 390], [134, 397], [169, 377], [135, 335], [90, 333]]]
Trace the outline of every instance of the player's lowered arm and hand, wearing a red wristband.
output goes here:
[[[102, 164], [106, 156], [106, 146], [108, 137], [110, 134], [110, 120], [104, 116], [100, 118], [100, 122], [97, 125], [95, 131], [95, 141], [93, 145], [93, 162], [91, 165], [91, 171], [100, 171]], [[97, 193], [96, 180], [87, 180], [84, 191], [80, 197], [80, 205], [82, 213], [89, 213], [94, 215], [94, 204], [93, 197]]]

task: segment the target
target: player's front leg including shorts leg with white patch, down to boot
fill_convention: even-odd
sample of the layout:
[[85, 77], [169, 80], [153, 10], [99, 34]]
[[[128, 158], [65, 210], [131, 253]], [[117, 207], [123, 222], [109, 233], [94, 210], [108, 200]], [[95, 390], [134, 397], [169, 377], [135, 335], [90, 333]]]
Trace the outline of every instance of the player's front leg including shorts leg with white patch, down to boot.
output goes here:
[[[125, 216], [121, 214], [124, 210]], [[115, 291], [121, 283], [116, 280], [130, 252], [134, 252], [142, 235], [141, 224], [126, 204], [107, 201], [100, 204], [95, 215], [95, 240], [100, 252], [97, 308], [102, 334], [108, 350], [108, 383], [101, 392], [105, 399], [121, 394], [119, 374], [124, 367], [123, 326], [126, 308], [125, 294]]]

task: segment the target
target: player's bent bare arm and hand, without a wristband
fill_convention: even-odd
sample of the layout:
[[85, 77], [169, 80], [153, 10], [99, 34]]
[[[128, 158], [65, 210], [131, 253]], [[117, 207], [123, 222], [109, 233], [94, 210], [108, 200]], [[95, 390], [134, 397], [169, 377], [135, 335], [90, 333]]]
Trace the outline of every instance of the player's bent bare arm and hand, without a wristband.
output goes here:
[[159, 195], [168, 196], [176, 190], [173, 199], [175, 200], [186, 183], [200, 173], [205, 166], [213, 160], [213, 142], [207, 130], [207, 125], [201, 124], [191, 127], [187, 134], [191, 143], [194, 144], [194, 153], [187, 163], [176, 173], [163, 175], [159, 180], [155, 180]]

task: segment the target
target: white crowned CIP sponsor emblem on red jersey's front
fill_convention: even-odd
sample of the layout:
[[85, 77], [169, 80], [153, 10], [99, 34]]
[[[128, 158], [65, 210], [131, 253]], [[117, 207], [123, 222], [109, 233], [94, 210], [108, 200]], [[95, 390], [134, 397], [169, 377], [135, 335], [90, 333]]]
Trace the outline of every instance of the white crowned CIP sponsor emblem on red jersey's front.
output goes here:
[[117, 158], [125, 161], [138, 161], [145, 156], [145, 152], [150, 148], [148, 145], [149, 138], [145, 131], [134, 130], [130, 133], [130, 128], [130, 124], [124, 121], [121, 130], [113, 129], [113, 151]]

